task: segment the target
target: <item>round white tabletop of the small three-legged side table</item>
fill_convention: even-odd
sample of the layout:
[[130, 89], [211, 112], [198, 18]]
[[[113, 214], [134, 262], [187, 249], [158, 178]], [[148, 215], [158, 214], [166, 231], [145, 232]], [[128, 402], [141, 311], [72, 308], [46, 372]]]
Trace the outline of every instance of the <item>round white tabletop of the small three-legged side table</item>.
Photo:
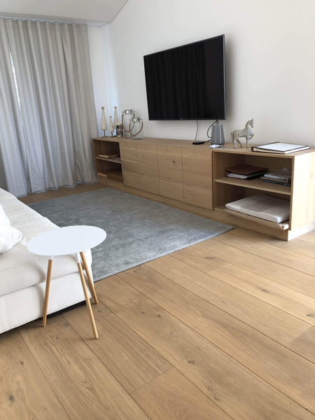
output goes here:
[[27, 249], [37, 255], [69, 255], [94, 248], [106, 238], [105, 230], [96, 226], [66, 226], [37, 235]]

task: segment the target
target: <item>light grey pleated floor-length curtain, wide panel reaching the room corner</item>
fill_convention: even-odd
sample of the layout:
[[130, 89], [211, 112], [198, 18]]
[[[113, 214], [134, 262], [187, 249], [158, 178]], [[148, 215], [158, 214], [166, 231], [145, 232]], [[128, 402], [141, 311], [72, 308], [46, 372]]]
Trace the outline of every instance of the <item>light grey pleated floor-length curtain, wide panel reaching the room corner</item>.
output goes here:
[[4, 19], [4, 25], [20, 99], [27, 192], [95, 181], [97, 120], [86, 25], [21, 19]]

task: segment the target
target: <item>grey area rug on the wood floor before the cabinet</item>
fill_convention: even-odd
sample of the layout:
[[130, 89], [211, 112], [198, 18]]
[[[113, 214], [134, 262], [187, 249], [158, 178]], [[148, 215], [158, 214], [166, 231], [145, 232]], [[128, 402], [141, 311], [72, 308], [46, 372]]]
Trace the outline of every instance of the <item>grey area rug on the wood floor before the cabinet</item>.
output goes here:
[[106, 230], [92, 248], [94, 280], [221, 235], [232, 226], [123, 193], [113, 188], [29, 204], [56, 225], [93, 225]]

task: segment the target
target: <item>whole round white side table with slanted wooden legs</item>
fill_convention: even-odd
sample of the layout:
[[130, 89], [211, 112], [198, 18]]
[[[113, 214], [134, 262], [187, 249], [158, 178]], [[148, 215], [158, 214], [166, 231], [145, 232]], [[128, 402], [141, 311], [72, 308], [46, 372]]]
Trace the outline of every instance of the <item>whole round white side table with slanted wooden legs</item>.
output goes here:
[[[90, 292], [94, 298], [94, 302], [98, 303], [97, 295], [95, 293], [94, 284], [90, 272], [87, 268], [87, 263], [85, 261], [85, 256], [83, 251], [87, 249], [94, 248], [104, 241], [106, 238], [105, 230], [97, 228], [95, 226], [67, 226], [66, 228], [56, 228], [53, 230], [48, 230], [43, 232], [40, 235], [32, 238], [28, 244], [27, 249], [31, 253], [37, 255], [46, 255], [48, 256], [48, 269], [47, 269], [47, 278], [46, 278], [46, 288], [45, 288], [45, 300], [43, 306], [43, 326], [46, 325], [47, 320], [47, 310], [48, 310], [48, 297], [49, 297], [49, 288], [50, 288], [50, 278], [52, 270], [52, 260], [54, 256], [57, 255], [76, 255], [76, 263], [78, 265], [78, 272], [80, 274], [80, 279], [82, 283], [82, 288], [85, 296], [85, 302], [87, 305], [87, 311], [90, 315], [90, 321], [92, 325], [92, 330], [94, 333], [94, 338], [99, 338], [97, 333], [97, 328], [94, 321], [94, 316], [92, 312], [91, 302], [87, 293], [87, 287], [85, 284], [85, 274], [87, 276], [87, 282], [90, 287]], [[81, 264], [81, 259], [83, 262], [83, 267]]]

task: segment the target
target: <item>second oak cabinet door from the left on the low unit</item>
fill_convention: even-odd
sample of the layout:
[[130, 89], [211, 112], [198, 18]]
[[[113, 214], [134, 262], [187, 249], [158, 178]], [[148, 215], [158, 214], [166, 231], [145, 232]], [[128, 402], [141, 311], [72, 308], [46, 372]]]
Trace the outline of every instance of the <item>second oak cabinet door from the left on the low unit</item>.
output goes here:
[[160, 194], [158, 149], [155, 144], [137, 144], [139, 188]]

